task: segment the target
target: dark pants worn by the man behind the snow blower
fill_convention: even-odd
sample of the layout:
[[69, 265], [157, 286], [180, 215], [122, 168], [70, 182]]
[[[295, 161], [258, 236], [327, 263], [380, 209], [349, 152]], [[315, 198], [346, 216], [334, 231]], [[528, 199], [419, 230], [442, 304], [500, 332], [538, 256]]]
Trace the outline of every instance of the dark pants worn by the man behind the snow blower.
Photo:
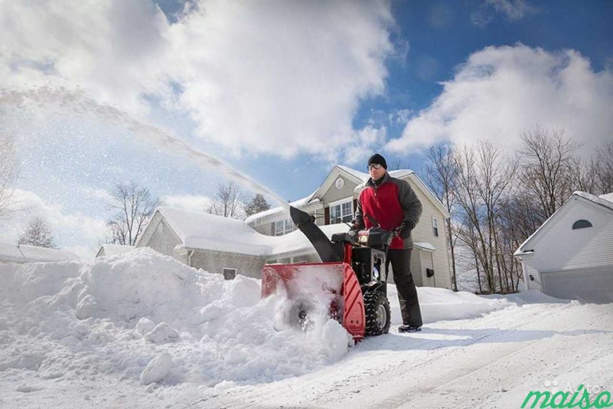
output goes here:
[[394, 269], [394, 281], [398, 290], [398, 302], [404, 325], [422, 325], [421, 310], [417, 299], [417, 289], [411, 274], [411, 248], [390, 249], [387, 251], [386, 270], [389, 264]]

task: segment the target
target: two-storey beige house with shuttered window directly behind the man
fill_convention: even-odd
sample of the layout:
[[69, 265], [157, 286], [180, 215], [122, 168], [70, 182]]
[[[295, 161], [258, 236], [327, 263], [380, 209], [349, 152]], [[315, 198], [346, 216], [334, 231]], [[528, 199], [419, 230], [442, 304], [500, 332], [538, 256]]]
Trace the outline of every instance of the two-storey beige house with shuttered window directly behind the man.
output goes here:
[[[417, 286], [432, 286], [451, 289], [447, 233], [444, 221], [449, 212], [413, 170], [391, 170], [392, 177], [406, 180], [422, 203], [421, 220], [413, 230], [414, 251], [411, 256], [411, 271]], [[324, 227], [351, 221], [359, 194], [358, 185], [370, 175], [346, 166], [334, 166], [323, 183], [309, 196], [292, 202], [291, 205], [314, 215], [316, 223]], [[282, 236], [294, 231], [294, 224], [285, 207], [275, 207], [249, 216], [245, 222], [266, 235]], [[344, 224], [341, 224], [344, 226]], [[346, 227], [345, 227], [346, 230]], [[313, 256], [316, 257], [316, 256]], [[314, 261], [302, 253], [284, 254], [272, 258], [272, 262]]]

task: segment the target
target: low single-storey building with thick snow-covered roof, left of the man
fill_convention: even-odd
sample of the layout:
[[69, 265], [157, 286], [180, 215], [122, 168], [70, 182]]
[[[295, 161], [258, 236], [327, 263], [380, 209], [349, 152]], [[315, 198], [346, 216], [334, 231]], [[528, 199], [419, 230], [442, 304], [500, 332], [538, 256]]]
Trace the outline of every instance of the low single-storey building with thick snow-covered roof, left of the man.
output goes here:
[[[348, 227], [335, 224], [322, 230], [332, 237]], [[320, 261], [300, 231], [283, 237], [264, 235], [242, 220], [172, 207], [156, 209], [135, 247], [153, 248], [190, 267], [226, 278], [236, 274], [259, 278], [267, 262]]]

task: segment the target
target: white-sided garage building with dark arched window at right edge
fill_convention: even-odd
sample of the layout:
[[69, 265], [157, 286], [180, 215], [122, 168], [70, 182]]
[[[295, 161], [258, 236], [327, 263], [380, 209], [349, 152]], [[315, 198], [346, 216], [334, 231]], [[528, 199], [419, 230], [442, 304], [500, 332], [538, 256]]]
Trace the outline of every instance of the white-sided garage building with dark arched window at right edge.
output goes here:
[[613, 194], [575, 192], [520, 245], [527, 289], [613, 302]]

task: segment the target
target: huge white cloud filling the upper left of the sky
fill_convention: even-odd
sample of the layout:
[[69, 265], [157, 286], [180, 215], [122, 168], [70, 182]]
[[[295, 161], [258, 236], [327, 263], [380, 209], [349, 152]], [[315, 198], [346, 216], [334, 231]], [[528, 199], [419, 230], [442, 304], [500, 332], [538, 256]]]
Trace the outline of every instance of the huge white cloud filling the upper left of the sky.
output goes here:
[[154, 96], [234, 153], [351, 147], [394, 55], [384, 0], [202, 0], [172, 25], [147, 0], [1, 2], [0, 16], [0, 88], [78, 87], [140, 116]]

